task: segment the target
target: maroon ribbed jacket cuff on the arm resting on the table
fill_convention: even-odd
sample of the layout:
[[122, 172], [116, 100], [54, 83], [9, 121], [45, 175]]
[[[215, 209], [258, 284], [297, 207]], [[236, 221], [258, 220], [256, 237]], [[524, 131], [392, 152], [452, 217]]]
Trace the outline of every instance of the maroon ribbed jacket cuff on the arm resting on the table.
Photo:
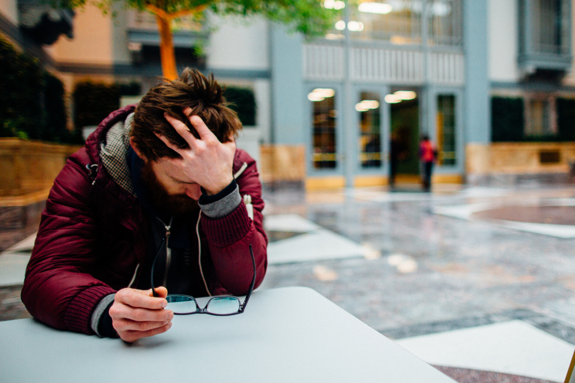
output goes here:
[[79, 293], [72, 299], [66, 315], [64, 315], [64, 324], [69, 331], [83, 332], [84, 334], [94, 334], [91, 328], [92, 312], [98, 303], [106, 296], [115, 293], [111, 287], [95, 286], [90, 287]]

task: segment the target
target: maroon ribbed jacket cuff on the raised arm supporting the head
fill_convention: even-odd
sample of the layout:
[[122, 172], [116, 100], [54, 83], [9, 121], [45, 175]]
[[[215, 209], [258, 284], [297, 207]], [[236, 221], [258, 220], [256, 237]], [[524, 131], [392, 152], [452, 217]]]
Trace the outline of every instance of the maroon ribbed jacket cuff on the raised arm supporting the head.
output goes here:
[[251, 227], [246, 204], [241, 201], [235, 210], [223, 218], [202, 215], [201, 223], [208, 242], [217, 247], [229, 246], [246, 237]]

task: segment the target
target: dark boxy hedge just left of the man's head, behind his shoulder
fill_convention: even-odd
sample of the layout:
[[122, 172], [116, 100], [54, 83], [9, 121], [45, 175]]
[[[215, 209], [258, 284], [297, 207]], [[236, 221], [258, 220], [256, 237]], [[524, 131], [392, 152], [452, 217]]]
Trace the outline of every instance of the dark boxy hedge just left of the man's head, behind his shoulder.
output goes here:
[[84, 81], [74, 88], [74, 126], [98, 125], [108, 114], [120, 107], [118, 84]]

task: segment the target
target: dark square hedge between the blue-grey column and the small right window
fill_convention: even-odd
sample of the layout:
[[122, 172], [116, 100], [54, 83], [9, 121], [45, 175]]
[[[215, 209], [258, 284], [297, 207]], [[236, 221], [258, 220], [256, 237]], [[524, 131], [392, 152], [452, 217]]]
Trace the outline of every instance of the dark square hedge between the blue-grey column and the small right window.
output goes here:
[[493, 97], [491, 99], [491, 140], [524, 141], [523, 99]]

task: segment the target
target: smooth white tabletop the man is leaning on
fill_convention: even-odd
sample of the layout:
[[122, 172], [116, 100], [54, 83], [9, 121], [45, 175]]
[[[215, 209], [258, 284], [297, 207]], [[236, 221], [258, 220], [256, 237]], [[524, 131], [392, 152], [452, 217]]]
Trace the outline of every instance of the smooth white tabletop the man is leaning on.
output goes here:
[[132, 345], [0, 322], [0, 381], [453, 383], [309, 288], [257, 291], [244, 314], [173, 322]]

